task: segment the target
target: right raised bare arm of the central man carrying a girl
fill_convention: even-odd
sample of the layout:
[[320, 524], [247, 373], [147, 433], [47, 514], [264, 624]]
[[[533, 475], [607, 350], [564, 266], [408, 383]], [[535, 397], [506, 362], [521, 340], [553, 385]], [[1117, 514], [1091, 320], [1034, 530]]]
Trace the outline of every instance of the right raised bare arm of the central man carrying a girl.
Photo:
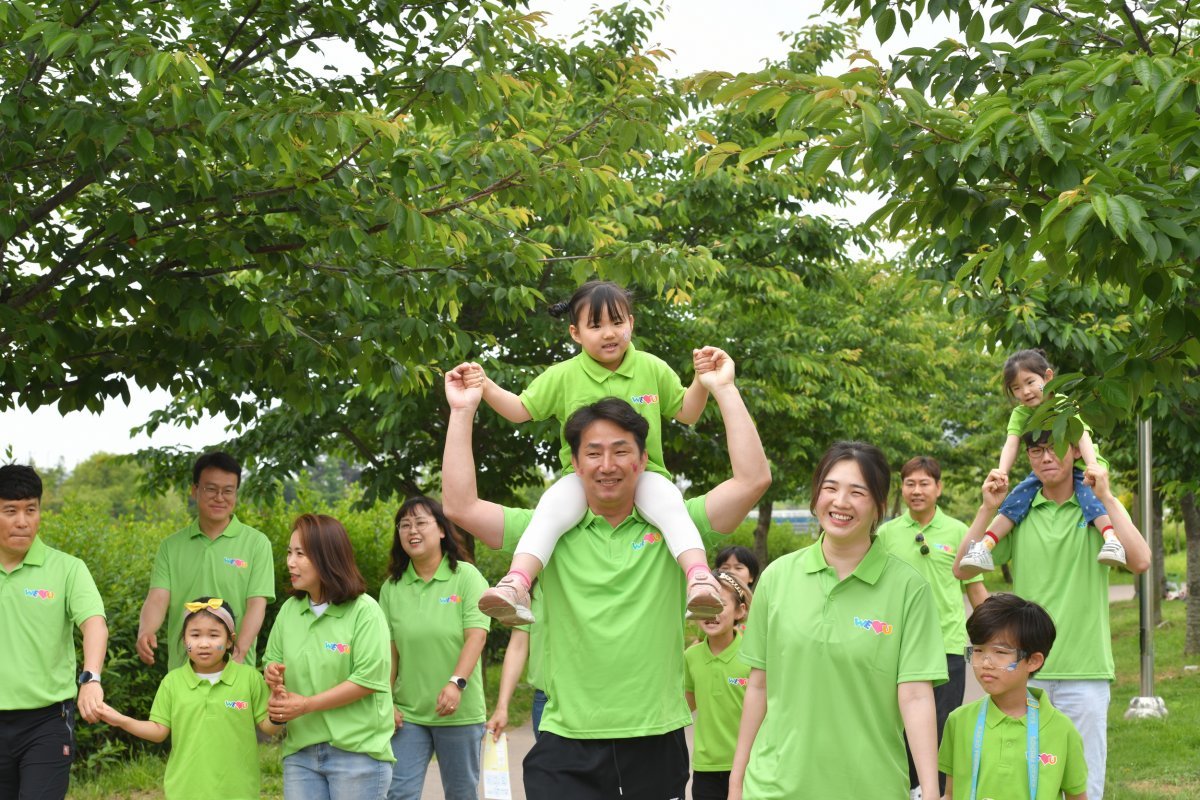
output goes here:
[[698, 378], [721, 410], [730, 465], [733, 468], [733, 476], [708, 493], [704, 511], [713, 530], [728, 534], [742, 524], [770, 486], [770, 464], [762, 450], [758, 429], [733, 381], [733, 359], [716, 348], [704, 348], [702, 354], [710, 359], [712, 368], [700, 373]]

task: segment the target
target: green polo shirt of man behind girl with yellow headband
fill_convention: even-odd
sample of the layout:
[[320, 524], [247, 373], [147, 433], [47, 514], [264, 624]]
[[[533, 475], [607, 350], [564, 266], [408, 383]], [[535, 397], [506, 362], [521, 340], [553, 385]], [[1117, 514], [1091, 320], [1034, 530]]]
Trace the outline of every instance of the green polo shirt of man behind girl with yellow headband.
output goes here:
[[[275, 600], [275, 559], [271, 542], [264, 534], [229, 521], [221, 535], [209, 539], [200, 524], [192, 524], [164, 539], [154, 559], [151, 589], [170, 593], [167, 612], [167, 668], [187, 663], [180, 636], [184, 632], [184, 603], [197, 597], [220, 597], [233, 607], [238, 626], [246, 613], [247, 597]], [[246, 645], [246, 663], [254, 663], [254, 643]]]

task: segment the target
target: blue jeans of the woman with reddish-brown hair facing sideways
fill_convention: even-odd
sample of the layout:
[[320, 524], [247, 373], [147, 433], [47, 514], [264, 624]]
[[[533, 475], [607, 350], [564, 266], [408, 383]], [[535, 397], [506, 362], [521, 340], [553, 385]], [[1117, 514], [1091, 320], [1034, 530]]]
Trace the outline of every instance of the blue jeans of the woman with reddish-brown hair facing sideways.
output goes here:
[[283, 759], [284, 800], [383, 800], [391, 764], [328, 742]]

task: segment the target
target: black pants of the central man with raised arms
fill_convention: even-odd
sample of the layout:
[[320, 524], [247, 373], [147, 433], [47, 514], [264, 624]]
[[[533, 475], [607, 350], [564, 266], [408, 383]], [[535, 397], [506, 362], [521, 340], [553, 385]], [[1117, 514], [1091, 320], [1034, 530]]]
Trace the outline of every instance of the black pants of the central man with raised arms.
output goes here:
[[683, 800], [683, 728], [632, 739], [566, 739], [542, 730], [524, 759], [529, 800]]

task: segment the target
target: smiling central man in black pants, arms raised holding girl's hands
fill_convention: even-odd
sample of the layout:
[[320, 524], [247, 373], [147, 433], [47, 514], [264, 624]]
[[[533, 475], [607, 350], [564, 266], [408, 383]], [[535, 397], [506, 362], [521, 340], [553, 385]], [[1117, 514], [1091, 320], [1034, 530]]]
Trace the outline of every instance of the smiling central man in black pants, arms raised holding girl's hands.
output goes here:
[[[701, 531], [730, 533], [770, 483], [770, 468], [737, 386], [733, 361], [706, 348], [700, 380], [725, 420], [733, 475], [688, 500]], [[444, 507], [492, 548], [511, 549], [532, 510], [479, 498], [472, 428], [481, 390], [446, 374], [450, 423], [442, 462]], [[550, 696], [541, 738], [524, 760], [530, 800], [683, 798], [691, 715], [683, 693], [685, 581], [661, 531], [634, 505], [646, 468], [647, 422], [614, 397], [586, 405], [564, 435], [588, 511], [541, 573], [541, 667]]]

